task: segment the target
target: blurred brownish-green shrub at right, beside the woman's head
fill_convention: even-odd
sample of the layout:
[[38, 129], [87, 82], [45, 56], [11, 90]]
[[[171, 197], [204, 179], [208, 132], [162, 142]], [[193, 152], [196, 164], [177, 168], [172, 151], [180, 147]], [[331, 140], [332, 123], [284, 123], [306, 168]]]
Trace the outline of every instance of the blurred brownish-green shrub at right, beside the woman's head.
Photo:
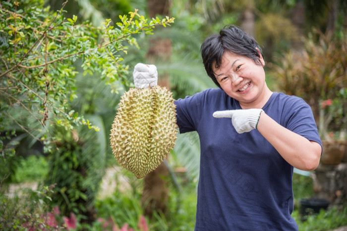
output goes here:
[[339, 98], [340, 90], [347, 88], [346, 35], [346, 31], [335, 35], [314, 31], [304, 40], [302, 51], [289, 51], [272, 66], [279, 89], [303, 98], [317, 121], [321, 100]]

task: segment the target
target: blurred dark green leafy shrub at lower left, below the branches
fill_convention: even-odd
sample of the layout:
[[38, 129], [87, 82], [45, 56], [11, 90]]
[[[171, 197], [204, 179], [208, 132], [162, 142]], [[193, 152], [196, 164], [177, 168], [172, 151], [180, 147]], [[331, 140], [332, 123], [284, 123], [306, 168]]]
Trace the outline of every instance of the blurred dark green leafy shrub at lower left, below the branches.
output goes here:
[[97, 139], [92, 143], [92, 139], [87, 137], [77, 138], [76, 131], [58, 131], [56, 133], [61, 139], [56, 142], [56, 151], [50, 156], [45, 185], [56, 184], [51, 195], [52, 203], [58, 205], [64, 216], [72, 212], [79, 214], [82, 221], [92, 222], [95, 219], [94, 200], [103, 175], [105, 155], [98, 150], [100, 144]]

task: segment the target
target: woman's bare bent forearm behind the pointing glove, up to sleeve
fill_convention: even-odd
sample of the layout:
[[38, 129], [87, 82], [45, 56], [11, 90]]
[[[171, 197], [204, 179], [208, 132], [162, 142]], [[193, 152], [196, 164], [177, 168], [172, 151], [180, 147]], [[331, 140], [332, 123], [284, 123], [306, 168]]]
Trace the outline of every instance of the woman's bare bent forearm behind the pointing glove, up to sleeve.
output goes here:
[[293, 167], [312, 171], [319, 165], [322, 147], [278, 124], [264, 111], [261, 112], [257, 130]]

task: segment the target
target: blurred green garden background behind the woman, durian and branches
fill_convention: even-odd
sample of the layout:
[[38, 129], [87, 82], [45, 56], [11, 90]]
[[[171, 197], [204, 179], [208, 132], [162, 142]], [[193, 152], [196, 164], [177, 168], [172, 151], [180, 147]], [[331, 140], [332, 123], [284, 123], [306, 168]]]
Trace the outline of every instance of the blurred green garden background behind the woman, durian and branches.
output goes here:
[[[84, 115], [99, 131], [81, 125], [54, 127], [53, 147], [42, 141], [46, 140], [42, 139], [47, 136], [46, 129], [37, 119], [30, 118], [27, 111], [13, 109], [15, 100], [8, 99], [11, 96], [4, 90], [9, 88], [6, 75], [1, 75], [0, 228], [193, 230], [199, 178], [197, 134], [178, 134], [176, 145], [163, 164], [144, 179], [136, 179], [116, 162], [110, 130], [120, 96], [133, 86], [132, 70], [138, 62], [155, 64], [158, 84], [170, 89], [175, 99], [216, 88], [205, 73], [200, 46], [207, 36], [228, 24], [240, 26], [256, 38], [265, 56], [270, 89], [302, 97], [312, 107], [324, 145], [331, 145], [338, 155], [324, 159], [326, 162], [317, 171], [294, 173], [293, 217], [299, 230], [347, 226], [347, 1], [9, 2], [1, 0], [2, 12], [8, 13], [4, 9], [11, 4], [11, 9], [20, 9], [21, 14], [28, 7], [35, 7], [37, 15], [53, 14], [64, 4], [61, 15], [65, 19], [61, 20], [77, 16], [74, 23], [89, 22], [95, 28], [106, 19], [111, 19], [109, 25], [116, 27], [122, 21], [119, 15], [128, 15], [135, 9], [148, 19], [174, 17], [174, 23], [156, 27], [152, 35], [134, 34], [138, 46], [129, 46], [121, 55], [122, 72], [116, 74], [121, 78], [114, 82], [105, 82], [100, 72], [86, 72], [83, 57], [70, 60], [75, 74], [69, 91], [74, 94], [64, 109]], [[1, 18], [2, 22], [7, 19]], [[31, 20], [29, 16], [25, 19]], [[6, 38], [1, 31], [2, 57], [12, 46], [10, 42], [5, 46]], [[16, 49], [8, 52], [16, 54]], [[10, 69], [6, 64], [10, 61], [6, 60], [9, 59], [2, 58], [0, 64], [3, 73]], [[11, 154], [6, 154], [8, 150]], [[329, 209], [312, 210], [304, 216], [299, 211], [300, 199], [309, 197], [328, 200]], [[19, 209], [19, 205], [24, 209]], [[56, 223], [49, 225], [48, 221]]]

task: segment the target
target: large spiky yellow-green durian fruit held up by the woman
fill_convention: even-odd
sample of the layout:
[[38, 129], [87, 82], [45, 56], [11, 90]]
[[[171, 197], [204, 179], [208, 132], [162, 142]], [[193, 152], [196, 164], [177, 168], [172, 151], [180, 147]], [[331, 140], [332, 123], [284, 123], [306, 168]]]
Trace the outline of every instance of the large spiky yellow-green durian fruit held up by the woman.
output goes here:
[[177, 139], [172, 92], [164, 87], [132, 88], [119, 102], [111, 129], [118, 163], [138, 179], [155, 170]]

